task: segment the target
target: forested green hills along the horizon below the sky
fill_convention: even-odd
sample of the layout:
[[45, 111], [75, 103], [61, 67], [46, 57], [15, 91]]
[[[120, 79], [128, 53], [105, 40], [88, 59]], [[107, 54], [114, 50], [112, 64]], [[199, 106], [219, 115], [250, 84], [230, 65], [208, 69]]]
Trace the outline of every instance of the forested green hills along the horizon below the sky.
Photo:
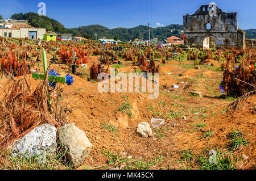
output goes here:
[[[93, 34], [97, 33], [98, 39], [106, 36], [108, 38], [115, 38], [121, 41], [129, 41], [134, 39], [148, 40], [148, 27], [137, 26], [134, 28], [114, 28], [109, 29], [107, 27], [94, 24], [90, 26], [81, 26], [78, 28], [65, 28], [63, 24], [57, 22], [57, 20], [48, 18], [47, 16], [39, 16], [34, 12], [28, 12], [27, 14], [14, 14], [11, 19], [28, 20], [28, 23], [33, 27], [46, 28], [47, 31], [54, 31], [56, 33], [73, 33], [73, 36], [82, 36], [87, 39], [93, 39]], [[177, 36], [181, 37], [181, 31], [183, 25], [171, 24], [166, 27], [150, 28], [151, 39], [157, 38], [163, 41], [167, 37]], [[247, 39], [256, 39], [256, 29], [245, 30]]]

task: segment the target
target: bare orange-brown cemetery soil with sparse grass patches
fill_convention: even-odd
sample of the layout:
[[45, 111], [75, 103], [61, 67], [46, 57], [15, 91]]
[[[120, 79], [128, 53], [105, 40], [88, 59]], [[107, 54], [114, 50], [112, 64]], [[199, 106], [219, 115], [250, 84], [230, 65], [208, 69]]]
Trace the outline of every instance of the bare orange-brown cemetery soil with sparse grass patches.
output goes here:
[[[47, 54], [47, 60], [51, 57]], [[89, 56], [93, 61], [98, 58]], [[134, 71], [129, 63], [109, 68], [127, 74]], [[220, 94], [221, 65], [214, 60], [211, 63], [214, 66], [194, 65], [185, 57], [161, 64], [157, 99], [148, 99], [147, 93], [100, 93], [98, 82], [87, 80], [92, 63], [79, 68], [77, 71], [85, 74], [72, 75], [73, 85], [64, 85], [61, 94], [63, 103], [72, 109], [65, 121], [75, 123], [93, 144], [78, 169], [255, 169], [256, 95], [246, 99], [241, 110], [229, 112], [235, 98]], [[195, 69], [197, 66], [200, 69]], [[43, 71], [42, 62], [40, 68]], [[51, 68], [57, 70], [59, 64]], [[26, 76], [34, 90], [40, 81], [31, 74]], [[2, 77], [0, 84], [6, 82]], [[195, 91], [202, 97], [191, 94]], [[1, 99], [3, 95], [1, 89]], [[165, 123], [152, 128], [152, 137], [139, 137], [137, 125], [150, 123], [151, 118]], [[208, 161], [210, 150], [217, 151], [214, 164]], [[0, 169], [72, 169], [60, 158], [63, 153], [59, 154], [40, 165], [33, 158], [16, 159], [2, 153]]]

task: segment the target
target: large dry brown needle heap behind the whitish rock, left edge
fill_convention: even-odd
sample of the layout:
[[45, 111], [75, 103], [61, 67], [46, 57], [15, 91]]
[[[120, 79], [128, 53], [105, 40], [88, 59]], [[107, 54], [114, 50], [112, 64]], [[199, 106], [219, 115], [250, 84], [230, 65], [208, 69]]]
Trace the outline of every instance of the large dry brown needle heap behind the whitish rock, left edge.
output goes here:
[[59, 127], [48, 111], [48, 71], [46, 78], [31, 92], [26, 77], [16, 80], [12, 75], [9, 89], [0, 101], [0, 148], [7, 148], [16, 138], [35, 127], [49, 123]]

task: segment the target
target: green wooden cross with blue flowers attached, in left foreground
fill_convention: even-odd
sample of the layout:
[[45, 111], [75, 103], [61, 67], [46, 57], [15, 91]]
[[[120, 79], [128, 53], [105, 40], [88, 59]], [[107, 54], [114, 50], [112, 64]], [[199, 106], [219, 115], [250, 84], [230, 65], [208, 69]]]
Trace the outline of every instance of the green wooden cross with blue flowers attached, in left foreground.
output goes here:
[[[43, 80], [46, 77], [46, 70], [47, 70], [46, 51], [43, 51], [42, 55], [43, 55], [44, 74], [32, 73], [32, 78]], [[66, 78], [65, 77], [57, 77], [57, 76], [49, 75], [48, 80], [52, 81], [52, 82], [66, 83]]]

